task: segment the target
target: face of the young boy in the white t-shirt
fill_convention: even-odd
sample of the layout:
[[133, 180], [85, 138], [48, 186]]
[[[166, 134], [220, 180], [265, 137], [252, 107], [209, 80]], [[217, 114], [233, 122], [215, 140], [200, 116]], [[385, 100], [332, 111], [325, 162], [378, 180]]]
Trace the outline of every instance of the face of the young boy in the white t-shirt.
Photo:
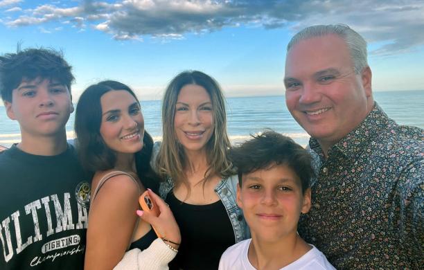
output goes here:
[[302, 194], [301, 181], [288, 165], [272, 165], [242, 175], [237, 204], [252, 237], [277, 242], [297, 235], [299, 216], [310, 209], [310, 189]]

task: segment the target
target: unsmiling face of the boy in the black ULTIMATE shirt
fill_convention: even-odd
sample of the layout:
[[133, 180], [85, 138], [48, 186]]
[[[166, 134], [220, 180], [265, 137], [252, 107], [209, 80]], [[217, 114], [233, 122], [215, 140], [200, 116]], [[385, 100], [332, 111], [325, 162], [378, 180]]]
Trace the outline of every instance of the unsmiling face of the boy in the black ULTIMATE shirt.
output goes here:
[[17, 120], [22, 137], [63, 136], [73, 111], [67, 86], [55, 80], [36, 78], [12, 91], [12, 102], [5, 101], [10, 119]]

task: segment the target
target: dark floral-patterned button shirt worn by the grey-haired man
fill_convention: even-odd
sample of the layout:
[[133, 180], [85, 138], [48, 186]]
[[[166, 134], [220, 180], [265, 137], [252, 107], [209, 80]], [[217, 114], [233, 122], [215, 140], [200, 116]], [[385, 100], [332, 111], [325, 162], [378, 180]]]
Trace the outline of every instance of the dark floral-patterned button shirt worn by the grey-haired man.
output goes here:
[[309, 142], [317, 178], [299, 234], [337, 269], [422, 269], [424, 131], [376, 104], [324, 154]]

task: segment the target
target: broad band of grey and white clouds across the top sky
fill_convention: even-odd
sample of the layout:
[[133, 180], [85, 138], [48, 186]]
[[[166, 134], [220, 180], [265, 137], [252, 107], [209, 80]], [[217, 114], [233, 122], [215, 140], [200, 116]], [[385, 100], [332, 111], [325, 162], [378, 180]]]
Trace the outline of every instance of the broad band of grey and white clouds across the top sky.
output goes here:
[[[3, 0], [0, 6], [18, 2]], [[377, 55], [404, 53], [424, 44], [424, 1], [86, 0], [68, 2], [69, 8], [53, 3], [22, 10], [19, 17], [3, 18], [3, 24], [18, 27], [69, 21], [79, 29], [93, 24], [94, 29], [118, 40], [150, 36], [169, 41], [182, 39], [187, 33], [244, 25], [294, 32], [312, 24], [343, 23], [369, 42], [384, 42], [373, 52]]]

